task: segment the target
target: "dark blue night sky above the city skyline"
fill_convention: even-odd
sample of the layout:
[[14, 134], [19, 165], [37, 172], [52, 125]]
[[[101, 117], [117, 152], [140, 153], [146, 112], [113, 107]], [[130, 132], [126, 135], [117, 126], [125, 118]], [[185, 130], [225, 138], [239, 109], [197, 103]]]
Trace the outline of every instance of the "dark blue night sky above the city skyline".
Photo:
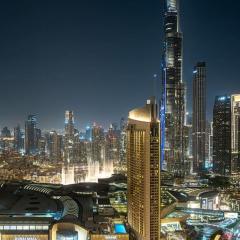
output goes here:
[[[33, 113], [40, 127], [63, 128], [66, 109], [78, 127], [108, 126], [159, 95], [162, 2], [1, 1], [0, 127]], [[188, 109], [193, 66], [206, 61], [210, 118], [215, 95], [240, 92], [240, 1], [180, 5]]]

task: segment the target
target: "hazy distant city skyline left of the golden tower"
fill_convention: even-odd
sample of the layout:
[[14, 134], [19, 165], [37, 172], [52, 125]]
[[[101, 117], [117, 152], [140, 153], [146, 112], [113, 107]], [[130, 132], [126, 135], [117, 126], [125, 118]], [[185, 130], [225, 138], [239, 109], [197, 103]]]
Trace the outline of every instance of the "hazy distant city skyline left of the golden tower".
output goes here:
[[[25, 129], [18, 125], [14, 134], [4, 127], [0, 136], [0, 150], [35, 156], [41, 161], [77, 166], [88, 169], [94, 181], [101, 176], [111, 176], [113, 171], [126, 172], [126, 122], [121, 119], [119, 126], [110, 124], [105, 130], [93, 123], [85, 131], [76, 128], [73, 111], [65, 112], [64, 131], [48, 131], [38, 128], [37, 117], [29, 115]], [[88, 175], [89, 175], [88, 173]], [[93, 178], [88, 176], [88, 180]]]

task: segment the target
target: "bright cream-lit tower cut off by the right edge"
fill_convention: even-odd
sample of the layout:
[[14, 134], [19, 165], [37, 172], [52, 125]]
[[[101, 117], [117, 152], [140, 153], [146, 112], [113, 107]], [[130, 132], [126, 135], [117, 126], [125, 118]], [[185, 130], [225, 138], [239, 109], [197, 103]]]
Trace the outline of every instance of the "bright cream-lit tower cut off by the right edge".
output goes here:
[[240, 94], [231, 96], [231, 163], [232, 173], [240, 171]]

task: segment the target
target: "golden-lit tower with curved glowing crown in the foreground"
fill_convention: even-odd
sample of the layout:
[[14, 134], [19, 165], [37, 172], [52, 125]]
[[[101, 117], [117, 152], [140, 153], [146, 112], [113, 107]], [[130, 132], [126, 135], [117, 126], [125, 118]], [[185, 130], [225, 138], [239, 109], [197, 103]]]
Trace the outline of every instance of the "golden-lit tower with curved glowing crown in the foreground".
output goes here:
[[160, 239], [160, 123], [154, 98], [129, 113], [128, 221], [141, 240]]

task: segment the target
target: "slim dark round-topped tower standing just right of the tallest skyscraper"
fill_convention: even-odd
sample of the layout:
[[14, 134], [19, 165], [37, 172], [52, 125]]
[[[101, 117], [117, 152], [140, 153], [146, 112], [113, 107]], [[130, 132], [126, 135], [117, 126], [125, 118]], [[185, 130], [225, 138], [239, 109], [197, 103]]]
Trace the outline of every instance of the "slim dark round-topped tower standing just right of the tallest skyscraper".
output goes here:
[[201, 173], [206, 160], [206, 63], [193, 71], [193, 172]]

